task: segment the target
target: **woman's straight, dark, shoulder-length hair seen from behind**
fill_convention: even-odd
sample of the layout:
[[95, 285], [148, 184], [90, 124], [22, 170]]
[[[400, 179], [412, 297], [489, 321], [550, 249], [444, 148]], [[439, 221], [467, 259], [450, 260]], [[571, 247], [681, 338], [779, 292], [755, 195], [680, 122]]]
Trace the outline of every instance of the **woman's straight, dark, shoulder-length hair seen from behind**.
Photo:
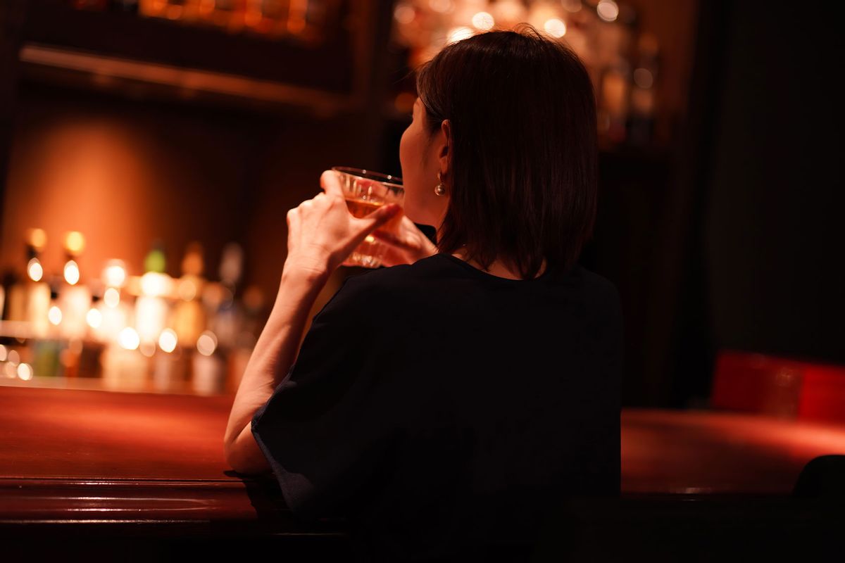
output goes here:
[[450, 121], [450, 203], [437, 246], [525, 279], [568, 271], [592, 235], [596, 102], [584, 65], [530, 25], [444, 47], [417, 72], [429, 133]]

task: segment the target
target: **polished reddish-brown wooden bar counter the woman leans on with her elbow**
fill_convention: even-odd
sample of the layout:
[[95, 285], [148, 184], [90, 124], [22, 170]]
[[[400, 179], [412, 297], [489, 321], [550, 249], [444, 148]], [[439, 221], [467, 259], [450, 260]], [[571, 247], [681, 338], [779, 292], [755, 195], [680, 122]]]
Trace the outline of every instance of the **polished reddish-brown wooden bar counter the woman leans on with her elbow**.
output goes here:
[[[0, 387], [0, 523], [227, 522], [303, 528], [270, 477], [226, 466], [231, 397]], [[845, 428], [711, 412], [628, 409], [624, 495], [781, 495]], [[256, 528], [256, 523], [260, 526]]]

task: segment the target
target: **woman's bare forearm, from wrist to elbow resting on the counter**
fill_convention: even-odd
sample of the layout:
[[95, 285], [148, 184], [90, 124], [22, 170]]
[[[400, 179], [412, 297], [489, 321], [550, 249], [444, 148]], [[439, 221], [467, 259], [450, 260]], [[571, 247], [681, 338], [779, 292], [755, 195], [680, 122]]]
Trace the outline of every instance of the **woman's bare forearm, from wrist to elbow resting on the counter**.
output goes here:
[[[286, 264], [287, 266], [287, 264]], [[252, 436], [251, 422], [296, 360], [308, 313], [328, 273], [285, 268], [270, 318], [255, 344], [226, 425], [226, 461], [240, 473], [269, 468]]]

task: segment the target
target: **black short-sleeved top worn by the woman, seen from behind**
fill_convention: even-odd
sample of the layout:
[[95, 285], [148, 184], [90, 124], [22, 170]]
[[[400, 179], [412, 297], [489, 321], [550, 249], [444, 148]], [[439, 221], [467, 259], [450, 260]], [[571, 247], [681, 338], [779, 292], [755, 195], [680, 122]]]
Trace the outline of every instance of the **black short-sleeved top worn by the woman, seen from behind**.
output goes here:
[[349, 517], [371, 560], [500, 554], [619, 495], [622, 349], [596, 273], [436, 254], [346, 279], [252, 429], [292, 510]]

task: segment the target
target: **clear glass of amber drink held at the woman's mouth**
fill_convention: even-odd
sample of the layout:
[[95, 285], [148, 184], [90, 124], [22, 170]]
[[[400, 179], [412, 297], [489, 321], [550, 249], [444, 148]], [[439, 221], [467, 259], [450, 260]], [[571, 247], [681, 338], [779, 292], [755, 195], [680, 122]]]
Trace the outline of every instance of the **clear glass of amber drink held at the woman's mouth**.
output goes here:
[[[402, 205], [404, 202], [405, 190], [402, 189], [402, 179], [398, 176], [349, 166], [332, 166], [331, 170], [335, 171], [341, 181], [346, 207], [355, 217], [365, 217], [386, 203]], [[398, 235], [401, 220], [402, 214], [396, 214], [377, 230]], [[384, 243], [373, 235], [367, 235], [367, 238], [346, 258], [343, 265], [379, 268], [384, 257], [384, 250]]]

